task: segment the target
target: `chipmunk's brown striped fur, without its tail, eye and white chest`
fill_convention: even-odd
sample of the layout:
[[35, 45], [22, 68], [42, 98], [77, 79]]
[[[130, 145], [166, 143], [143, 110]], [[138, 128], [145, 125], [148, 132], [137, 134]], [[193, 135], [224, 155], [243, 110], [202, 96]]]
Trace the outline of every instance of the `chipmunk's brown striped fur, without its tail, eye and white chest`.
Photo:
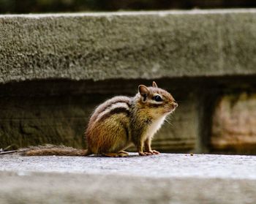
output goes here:
[[[162, 102], [152, 104], [154, 94], [162, 96]], [[114, 105], [124, 103], [124, 107]], [[129, 106], [129, 110], [127, 110]], [[158, 118], [162, 118], [176, 108], [177, 104], [170, 93], [157, 88], [157, 83], [152, 87], [139, 86], [139, 93], [135, 97], [114, 97], [99, 105], [89, 121], [86, 129], [88, 148], [93, 154], [105, 156], [121, 156], [132, 143], [137, 147], [140, 155], [159, 154], [151, 150], [153, 135], [146, 135], [148, 127]], [[108, 110], [104, 116], [100, 116]], [[97, 118], [99, 119], [97, 120]], [[143, 153], [143, 146], [146, 152]], [[127, 156], [127, 154], [125, 154]]]

